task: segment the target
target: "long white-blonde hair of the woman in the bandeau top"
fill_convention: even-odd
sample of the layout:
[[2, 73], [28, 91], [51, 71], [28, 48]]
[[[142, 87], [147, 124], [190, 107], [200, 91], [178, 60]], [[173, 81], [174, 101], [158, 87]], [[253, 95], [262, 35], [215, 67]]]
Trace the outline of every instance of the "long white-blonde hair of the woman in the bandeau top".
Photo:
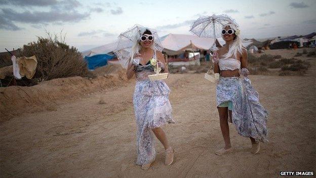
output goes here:
[[[223, 26], [223, 29], [226, 28], [227, 26], [229, 26], [231, 29], [233, 29], [236, 33], [236, 31], [240, 30], [232, 23], [228, 23], [226, 25]], [[235, 34], [235, 38], [233, 40], [233, 42], [231, 44], [229, 44], [228, 48], [228, 52], [226, 54], [223, 55], [224, 58], [229, 58], [231, 56], [237, 58], [237, 53], [239, 52], [240, 54], [243, 53], [243, 49], [246, 49], [244, 43], [247, 43], [249, 41], [245, 41], [241, 38], [240, 34], [236, 35]]]

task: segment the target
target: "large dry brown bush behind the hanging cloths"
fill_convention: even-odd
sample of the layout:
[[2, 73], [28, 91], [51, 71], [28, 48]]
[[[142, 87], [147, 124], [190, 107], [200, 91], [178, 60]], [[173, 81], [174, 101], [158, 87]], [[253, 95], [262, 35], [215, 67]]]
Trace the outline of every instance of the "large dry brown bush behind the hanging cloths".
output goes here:
[[[89, 77], [94, 75], [89, 72], [87, 63], [80, 52], [74, 47], [69, 47], [64, 43], [64, 39], [58, 40], [57, 35], [54, 37], [48, 33], [47, 38], [38, 37], [37, 42], [31, 42], [24, 45], [20, 56], [33, 56], [37, 59], [36, 72], [32, 79], [18, 80], [17, 85], [32, 86], [38, 82], [66, 77]], [[2, 80], [4, 86], [9, 84], [10, 79]]]

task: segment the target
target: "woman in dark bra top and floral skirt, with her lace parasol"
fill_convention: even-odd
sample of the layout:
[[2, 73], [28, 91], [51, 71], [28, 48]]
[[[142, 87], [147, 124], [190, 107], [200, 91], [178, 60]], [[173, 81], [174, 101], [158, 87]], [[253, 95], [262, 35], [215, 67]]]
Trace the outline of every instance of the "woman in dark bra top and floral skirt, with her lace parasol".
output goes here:
[[114, 53], [123, 67], [127, 68], [127, 78], [136, 76], [133, 95], [137, 125], [137, 160], [142, 169], [148, 169], [155, 160], [153, 134], [161, 141], [166, 150], [165, 164], [173, 162], [174, 149], [169, 145], [167, 136], [161, 128], [167, 123], [174, 123], [169, 101], [170, 89], [162, 80], [150, 81], [159, 65], [163, 72], [168, 72], [165, 65], [163, 46], [156, 30], [135, 25], [119, 36], [119, 43]]

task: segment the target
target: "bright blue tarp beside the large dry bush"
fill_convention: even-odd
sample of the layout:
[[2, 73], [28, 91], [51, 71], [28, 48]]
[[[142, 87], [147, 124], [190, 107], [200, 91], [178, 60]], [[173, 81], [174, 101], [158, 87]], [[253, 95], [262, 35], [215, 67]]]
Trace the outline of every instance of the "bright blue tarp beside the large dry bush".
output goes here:
[[85, 57], [85, 60], [88, 63], [88, 68], [94, 70], [97, 67], [107, 65], [107, 60], [113, 59], [114, 56], [108, 54], [97, 54], [90, 57]]

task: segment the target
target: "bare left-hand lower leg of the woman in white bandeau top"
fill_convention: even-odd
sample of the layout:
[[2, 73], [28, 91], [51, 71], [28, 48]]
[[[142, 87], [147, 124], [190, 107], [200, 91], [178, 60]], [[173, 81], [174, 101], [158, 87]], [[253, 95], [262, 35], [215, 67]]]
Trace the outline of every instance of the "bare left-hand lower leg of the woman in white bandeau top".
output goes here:
[[230, 137], [229, 137], [229, 127], [228, 127], [228, 108], [227, 107], [218, 107], [218, 114], [219, 114], [219, 124], [221, 127], [222, 135], [225, 142], [225, 150], [231, 148], [230, 145]]

